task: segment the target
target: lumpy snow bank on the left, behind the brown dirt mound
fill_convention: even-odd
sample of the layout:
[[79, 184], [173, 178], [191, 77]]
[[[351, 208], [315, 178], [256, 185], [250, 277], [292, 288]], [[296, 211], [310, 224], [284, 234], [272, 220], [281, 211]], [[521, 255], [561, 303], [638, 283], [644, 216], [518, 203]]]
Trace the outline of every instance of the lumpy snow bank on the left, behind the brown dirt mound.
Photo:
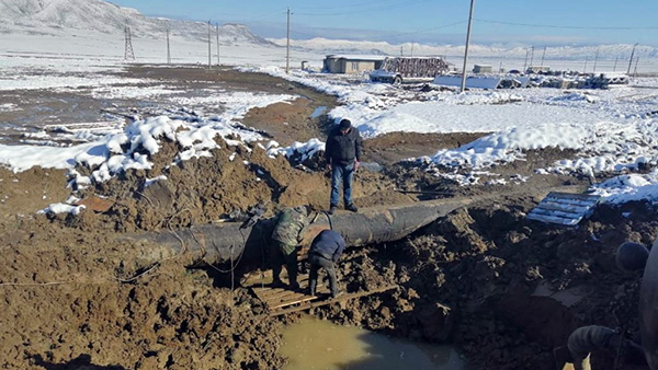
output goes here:
[[[144, 149], [152, 155], [159, 151], [163, 138], [178, 142], [182, 148], [178, 161], [209, 157], [208, 150], [218, 147], [215, 141], [217, 136], [223, 138], [227, 146], [262, 140], [260, 134], [242, 128], [236, 125], [236, 122], [252, 107], [293, 99], [296, 96], [227, 93], [223, 95], [222, 101], [229, 104], [229, 108], [220, 116], [189, 116], [190, 119], [150, 117], [134, 122], [120, 134], [68, 148], [0, 144], [0, 164], [11, 167], [14, 172], [25, 171], [35, 165], [69, 169], [70, 175], [75, 177], [71, 185], [101, 183], [129, 169], [150, 169], [152, 163], [149, 155], [141, 154], [139, 150]], [[227, 139], [228, 136], [239, 140]], [[90, 176], [83, 176], [75, 170], [78, 165], [95, 170]]]

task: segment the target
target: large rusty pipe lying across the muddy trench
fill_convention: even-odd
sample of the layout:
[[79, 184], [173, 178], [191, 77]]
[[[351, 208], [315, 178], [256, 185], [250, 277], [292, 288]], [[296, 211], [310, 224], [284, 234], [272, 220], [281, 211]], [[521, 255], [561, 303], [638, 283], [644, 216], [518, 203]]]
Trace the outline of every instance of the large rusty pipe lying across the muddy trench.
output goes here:
[[[397, 241], [472, 201], [472, 198], [452, 198], [386, 208], [366, 208], [358, 213], [319, 213], [317, 217], [311, 213], [310, 218], [315, 221], [305, 229], [303, 251], [320, 231], [330, 228], [343, 235], [348, 246]], [[241, 262], [249, 262], [261, 261], [266, 253], [273, 228], [273, 219], [263, 219], [247, 229], [240, 229], [238, 222], [222, 222], [120, 238], [132, 242], [156, 243], [175, 254], [188, 252], [203, 255], [211, 262], [235, 261], [240, 255]]]

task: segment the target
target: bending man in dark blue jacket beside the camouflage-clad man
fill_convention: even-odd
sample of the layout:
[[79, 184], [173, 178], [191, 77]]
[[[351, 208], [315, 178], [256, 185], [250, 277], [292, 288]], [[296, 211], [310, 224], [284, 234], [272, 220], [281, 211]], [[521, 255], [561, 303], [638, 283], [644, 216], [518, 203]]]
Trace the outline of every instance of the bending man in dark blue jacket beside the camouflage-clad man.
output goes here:
[[310, 296], [315, 296], [318, 285], [318, 270], [324, 268], [329, 275], [329, 288], [331, 297], [336, 298], [342, 293], [338, 290], [336, 279], [336, 268], [333, 264], [338, 262], [342, 251], [345, 248], [345, 240], [341, 234], [333, 230], [320, 232], [310, 244], [308, 250], [308, 262], [310, 263], [310, 274], [308, 276], [308, 289]]

